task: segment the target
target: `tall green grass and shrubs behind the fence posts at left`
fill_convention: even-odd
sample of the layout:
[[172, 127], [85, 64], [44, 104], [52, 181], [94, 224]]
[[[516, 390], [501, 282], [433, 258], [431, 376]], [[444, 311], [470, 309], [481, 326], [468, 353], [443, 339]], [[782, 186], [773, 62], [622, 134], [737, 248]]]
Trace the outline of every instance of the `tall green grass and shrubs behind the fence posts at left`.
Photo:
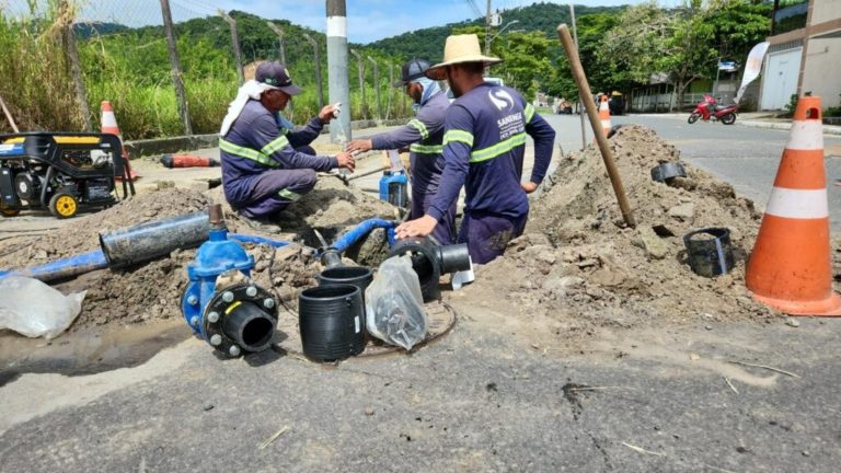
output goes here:
[[[61, 31], [73, 14], [60, 15], [57, 4], [57, 0], [50, 0], [46, 18], [31, 16], [23, 22], [0, 11], [0, 47], [8, 58], [23, 58], [0, 64], [0, 95], [21, 129], [83, 128], [61, 43]], [[266, 20], [242, 12], [231, 15], [238, 22], [243, 62], [278, 58], [278, 38]], [[304, 90], [287, 111], [290, 119], [301, 124], [319, 108], [313, 48], [302, 34], [308, 33], [319, 44], [325, 102], [329, 97], [326, 38], [285, 20], [274, 22], [284, 28], [286, 55], [290, 59], [288, 68]], [[176, 24], [175, 28], [193, 130], [216, 132], [239, 86], [230, 30], [221, 18], [194, 19]], [[99, 126], [100, 102], [110, 100], [127, 139], [183, 134], [162, 26], [127, 28], [110, 23], [77, 24], [74, 31], [95, 126]], [[411, 114], [402, 90], [389, 82], [388, 64], [396, 66], [399, 60], [375, 48], [352, 47], [365, 57], [373, 57], [380, 65], [383, 115], [388, 113], [394, 118]], [[376, 114], [372, 65], [366, 62], [366, 104], [361, 103], [358, 82], [353, 80], [356, 73], [352, 73], [350, 106], [355, 118], [373, 118]], [[356, 61], [352, 60], [349, 66], [356, 72]], [[4, 120], [0, 120], [0, 130], [10, 130]]]

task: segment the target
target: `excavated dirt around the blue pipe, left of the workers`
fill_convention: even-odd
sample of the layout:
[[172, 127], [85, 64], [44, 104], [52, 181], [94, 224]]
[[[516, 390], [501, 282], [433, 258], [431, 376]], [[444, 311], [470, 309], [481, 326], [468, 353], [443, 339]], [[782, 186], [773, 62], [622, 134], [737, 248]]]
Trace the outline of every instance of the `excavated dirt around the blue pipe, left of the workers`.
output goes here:
[[[0, 255], [3, 255], [0, 256], [0, 267], [22, 268], [96, 250], [100, 231], [203, 211], [217, 201], [224, 203], [221, 189], [168, 188], [139, 194], [47, 235], [0, 242]], [[368, 218], [394, 218], [395, 210], [355, 187], [346, 187], [335, 177], [322, 177], [313, 192], [284, 212], [280, 221], [284, 233], [280, 234], [253, 229], [230, 206], [224, 204], [223, 207], [226, 223], [232, 232], [303, 241], [312, 238], [308, 233], [310, 226], [331, 229], [331, 232], [338, 234]], [[325, 234], [329, 240], [332, 236]], [[364, 245], [379, 249], [385, 244], [383, 238], [383, 233], [372, 234]], [[297, 304], [298, 290], [316, 285], [315, 275], [322, 266], [312, 250], [300, 244], [281, 247], [277, 252], [267, 245], [247, 245], [247, 250], [255, 255], [253, 276], [258, 284], [276, 289], [292, 305]], [[88, 290], [82, 313], [70, 330], [181, 316], [181, 296], [187, 285], [186, 266], [194, 256], [195, 250], [175, 251], [168, 258], [138, 267], [97, 270], [58, 285], [57, 289], [65, 293]]]

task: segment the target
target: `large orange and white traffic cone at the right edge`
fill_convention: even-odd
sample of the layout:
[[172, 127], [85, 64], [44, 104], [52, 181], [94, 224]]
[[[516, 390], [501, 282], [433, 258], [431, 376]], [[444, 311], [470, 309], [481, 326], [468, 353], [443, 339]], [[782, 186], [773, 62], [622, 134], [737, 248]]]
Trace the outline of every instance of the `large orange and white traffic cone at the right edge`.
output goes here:
[[745, 275], [753, 299], [791, 315], [841, 315], [832, 291], [820, 97], [797, 102]]

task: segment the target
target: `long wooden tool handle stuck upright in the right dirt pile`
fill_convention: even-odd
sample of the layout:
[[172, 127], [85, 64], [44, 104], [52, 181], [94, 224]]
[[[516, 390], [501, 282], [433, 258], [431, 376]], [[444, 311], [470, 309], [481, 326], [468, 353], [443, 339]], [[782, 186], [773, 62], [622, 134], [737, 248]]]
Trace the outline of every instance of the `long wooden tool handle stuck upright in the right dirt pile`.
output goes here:
[[573, 78], [578, 85], [578, 93], [581, 96], [585, 108], [587, 108], [592, 134], [596, 136], [596, 142], [599, 145], [601, 158], [604, 160], [604, 166], [608, 169], [608, 176], [610, 176], [610, 183], [613, 185], [613, 192], [617, 194], [619, 208], [622, 210], [622, 218], [629, 227], [634, 228], [636, 227], [634, 212], [631, 210], [631, 204], [627, 200], [627, 195], [625, 195], [625, 187], [622, 185], [622, 176], [619, 175], [617, 163], [613, 161], [613, 153], [610, 151], [608, 138], [601, 129], [601, 122], [599, 122], [599, 113], [596, 109], [596, 102], [592, 101], [590, 84], [587, 83], [587, 76], [584, 73], [581, 59], [578, 57], [578, 48], [575, 47], [573, 37], [569, 35], [569, 28], [567, 28], [565, 24], [557, 27], [557, 36], [561, 38], [561, 44], [566, 50], [566, 57], [569, 59], [569, 67], [573, 70]]

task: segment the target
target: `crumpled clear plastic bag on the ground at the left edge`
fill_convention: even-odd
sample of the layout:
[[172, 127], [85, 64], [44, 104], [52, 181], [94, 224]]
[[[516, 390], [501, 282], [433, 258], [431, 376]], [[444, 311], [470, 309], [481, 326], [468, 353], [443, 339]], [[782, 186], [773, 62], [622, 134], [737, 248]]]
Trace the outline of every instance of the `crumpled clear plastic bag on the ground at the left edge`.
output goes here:
[[65, 296], [32, 278], [0, 279], [0, 330], [9, 328], [27, 337], [47, 339], [66, 331], [82, 311], [88, 291]]

